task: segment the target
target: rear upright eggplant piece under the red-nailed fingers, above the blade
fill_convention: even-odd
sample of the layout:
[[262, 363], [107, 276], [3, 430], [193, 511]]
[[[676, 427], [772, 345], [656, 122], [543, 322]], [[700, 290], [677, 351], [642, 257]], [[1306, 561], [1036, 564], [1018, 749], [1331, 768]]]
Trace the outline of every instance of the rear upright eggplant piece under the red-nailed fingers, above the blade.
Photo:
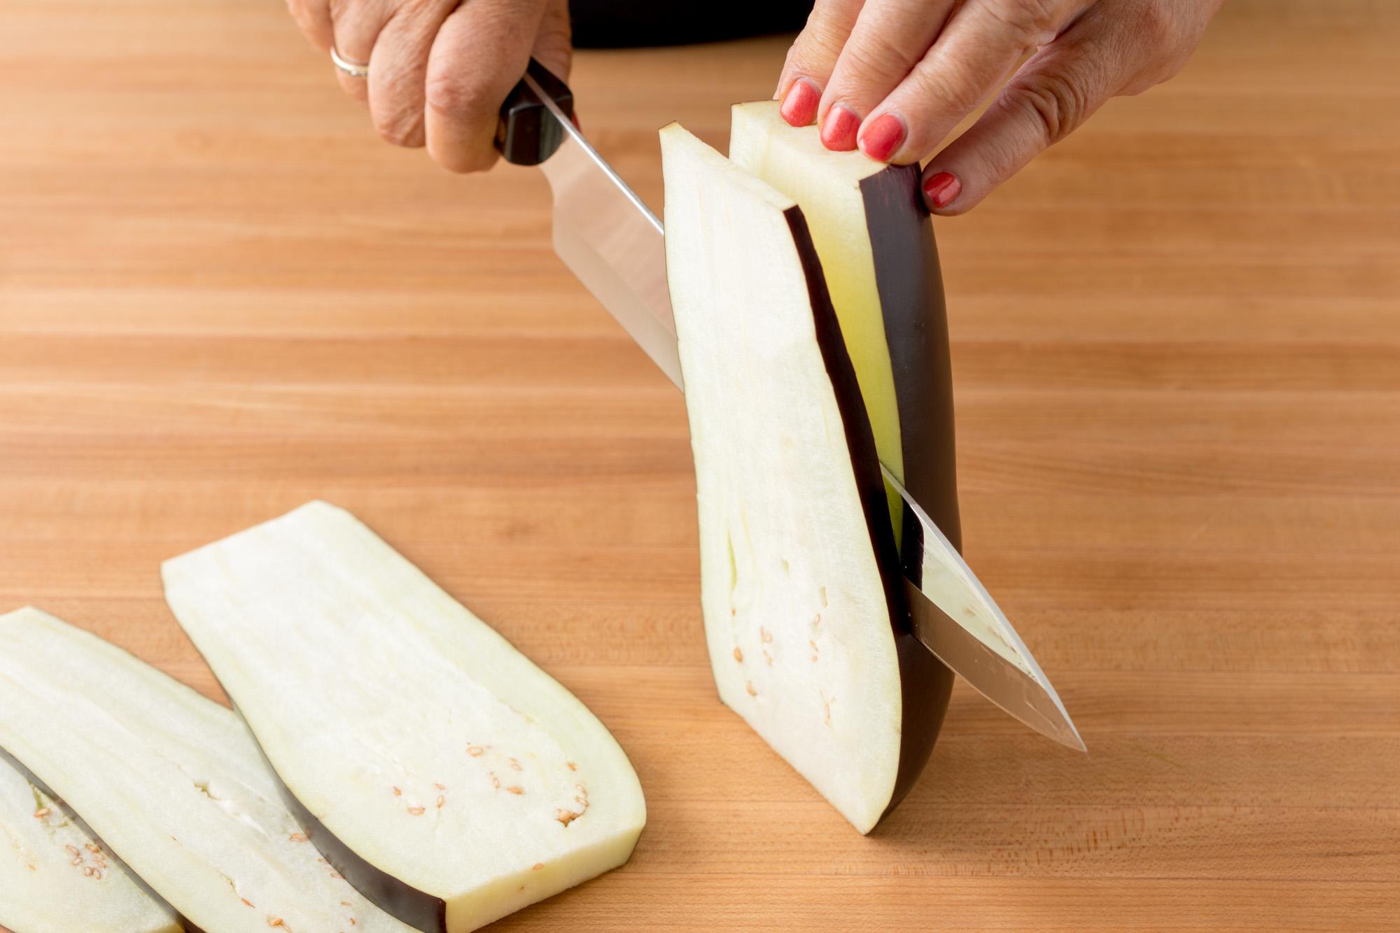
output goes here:
[[[881, 462], [958, 545], [948, 319], [918, 165], [834, 153], [777, 101], [734, 105], [729, 158], [802, 209]], [[899, 495], [889, 502], [899, 539]]]

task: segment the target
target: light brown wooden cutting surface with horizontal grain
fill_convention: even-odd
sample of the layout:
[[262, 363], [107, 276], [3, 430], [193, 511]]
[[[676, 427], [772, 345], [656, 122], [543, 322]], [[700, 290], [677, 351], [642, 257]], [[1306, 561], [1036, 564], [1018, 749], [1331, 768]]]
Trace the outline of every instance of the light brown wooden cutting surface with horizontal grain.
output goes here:
[[[0, 4], [0, 608], [200, 689], [162, 558], [325, 497], [641, 775], [629, 866], [503, 929], [1400, 929], [1394, 4], [1238, 0], [938, 223], [967, 555], [1081, 756], [959, 684], [858, 836], [715, 699], [680, 396], [528, 170], [377, 141], [262, 0]], [[650, 199], [783, 42], [587, 53]], [[0, 710], [3, 714], [3, 710]]]

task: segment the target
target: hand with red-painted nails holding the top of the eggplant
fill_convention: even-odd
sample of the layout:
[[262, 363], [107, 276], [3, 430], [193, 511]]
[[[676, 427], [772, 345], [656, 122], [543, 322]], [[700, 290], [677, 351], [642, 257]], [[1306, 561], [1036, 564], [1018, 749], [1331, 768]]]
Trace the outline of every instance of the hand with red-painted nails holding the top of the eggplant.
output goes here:
[[917, 163], [1035, 50], [986, 113], [924, 168], [960, 214], [1110, 97], [1186, 63], [1222, 0], [816, 0], [778, 81], [783, 116], [827, 148]]

